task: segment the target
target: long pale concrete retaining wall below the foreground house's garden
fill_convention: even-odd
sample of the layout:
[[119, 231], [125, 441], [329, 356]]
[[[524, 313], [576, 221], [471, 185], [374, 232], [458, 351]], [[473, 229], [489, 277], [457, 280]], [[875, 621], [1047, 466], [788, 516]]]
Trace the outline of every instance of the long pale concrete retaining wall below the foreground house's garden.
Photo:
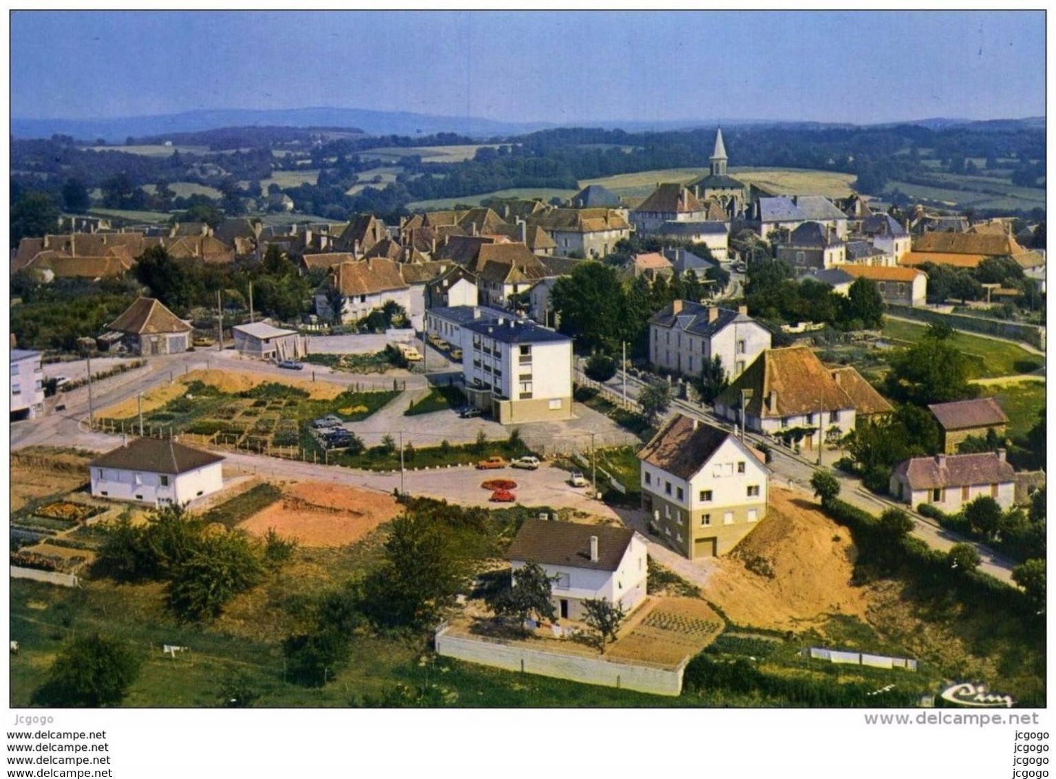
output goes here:
[[682, 691], [685, 663], [672, 668], [611, 660], [603, 656], [546, 651], [483, 636], [451, 635], [450, 628], [436, 633], [436, 653], [469, 663], [583, 684], [619, 687], [657, 696], [678, 696]]

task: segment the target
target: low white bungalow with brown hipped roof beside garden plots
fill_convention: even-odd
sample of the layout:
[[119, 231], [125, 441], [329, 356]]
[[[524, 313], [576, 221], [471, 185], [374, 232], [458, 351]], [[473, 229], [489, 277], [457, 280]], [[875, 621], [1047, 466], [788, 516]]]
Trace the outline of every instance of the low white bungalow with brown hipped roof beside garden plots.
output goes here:
[[173, 440], [135, 438], [89, 463], [92, 494], [153, 506], [191, 502], [223, 488], [223, 461]]

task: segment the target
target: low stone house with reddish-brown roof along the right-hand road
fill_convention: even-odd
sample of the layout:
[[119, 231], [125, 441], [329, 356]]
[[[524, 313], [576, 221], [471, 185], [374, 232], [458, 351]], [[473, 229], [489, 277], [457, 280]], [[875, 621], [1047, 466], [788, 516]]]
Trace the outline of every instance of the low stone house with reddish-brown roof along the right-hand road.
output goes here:
[[913, 457], [900, 462], [891, 473], [892, 495], [910, 506], [929, 504], [956, 514], [980, 495], [987, 495], [1004, 509], [1016, 499], [1016, 472], [1005, 460], [1004, 450], [980, 454]]

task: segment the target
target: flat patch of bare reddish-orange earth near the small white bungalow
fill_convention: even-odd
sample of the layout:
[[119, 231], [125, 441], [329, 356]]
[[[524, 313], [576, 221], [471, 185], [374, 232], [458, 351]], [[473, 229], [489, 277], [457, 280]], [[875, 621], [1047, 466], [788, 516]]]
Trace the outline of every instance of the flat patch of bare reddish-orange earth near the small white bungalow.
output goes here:
[[239, 525], [263, 536], [268, 528], [306, 547], [354, 544], [400, 512], [388, 494], [344, 484], [302, 481], [285, 491], [284, 499]]

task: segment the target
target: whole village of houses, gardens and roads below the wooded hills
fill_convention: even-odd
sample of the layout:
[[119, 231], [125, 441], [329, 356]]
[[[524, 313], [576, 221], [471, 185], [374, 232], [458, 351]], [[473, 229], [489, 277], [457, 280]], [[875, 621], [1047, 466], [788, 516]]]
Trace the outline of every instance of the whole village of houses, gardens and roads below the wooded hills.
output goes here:
[[[120, 306], [13, 336], [13, 702], [108, 606], [155, 680], [129, 705], [1043, 702], [1010, 638], [1043, 635], [1043, 223], [744, 183], [721, 129], [709, 159], [638, 197], [21, 238], [13, 311]], [[372, 670], [394, 628], [420, 648]]]

